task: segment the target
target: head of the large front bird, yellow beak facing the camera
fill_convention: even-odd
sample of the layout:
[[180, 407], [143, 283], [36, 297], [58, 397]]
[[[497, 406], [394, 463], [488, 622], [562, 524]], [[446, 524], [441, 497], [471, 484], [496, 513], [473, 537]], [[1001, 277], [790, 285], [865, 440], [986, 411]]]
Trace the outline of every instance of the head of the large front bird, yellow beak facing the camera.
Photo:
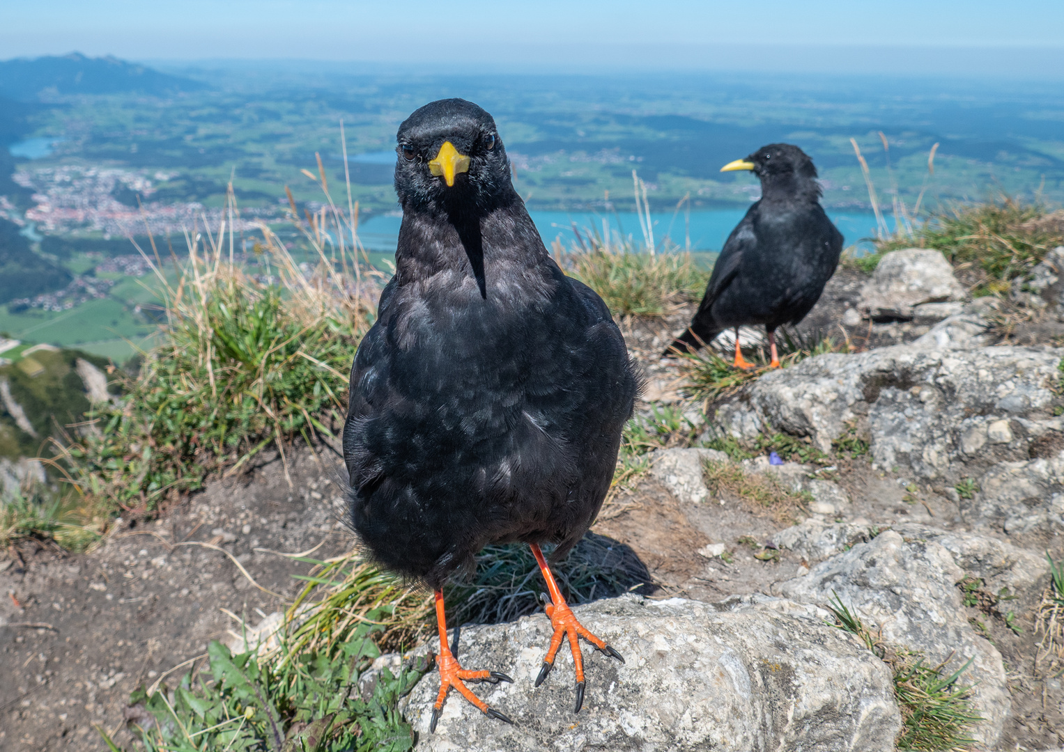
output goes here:
[[514, 194], [495, 119], [472, 102], [430, 102], [403, 120], [396, 137], [403, 206], [489, 211]]

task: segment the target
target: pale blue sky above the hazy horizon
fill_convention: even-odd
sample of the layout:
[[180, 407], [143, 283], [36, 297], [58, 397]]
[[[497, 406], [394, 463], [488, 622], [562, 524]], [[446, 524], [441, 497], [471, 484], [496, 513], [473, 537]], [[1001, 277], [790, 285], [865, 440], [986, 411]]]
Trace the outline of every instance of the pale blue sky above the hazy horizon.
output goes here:
[[0, 0], [0, 59], [301, 59], [450, 68], [1045, 73], [1064, 2]]

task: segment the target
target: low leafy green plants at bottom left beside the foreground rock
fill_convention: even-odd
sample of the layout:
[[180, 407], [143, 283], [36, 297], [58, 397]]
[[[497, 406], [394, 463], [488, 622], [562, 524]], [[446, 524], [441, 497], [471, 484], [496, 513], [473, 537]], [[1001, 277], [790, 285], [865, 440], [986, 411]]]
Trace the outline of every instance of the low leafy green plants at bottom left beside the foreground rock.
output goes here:
[[[380, 629], [365, 622], [335, 654], [302, 653], [284, 662], [263, 659], [255, 652], [233, 655], [212, 641], [210, 680], [189, 673], [172, 690], [164, 686], [149, 693], [142, 687], [133, 692], [130, 704], [143, 706], [153, 720], [134, 729], [147, 752], [413, 749], [414, 732], [397, 705], [430, 668], [428, 663], [406, 665], [398, 676], [384, 668], [368, 701], [358, 692], [359, 676], [380, 654], [371, 639]], [[282, 652], [284, 648], [282, 641]]]

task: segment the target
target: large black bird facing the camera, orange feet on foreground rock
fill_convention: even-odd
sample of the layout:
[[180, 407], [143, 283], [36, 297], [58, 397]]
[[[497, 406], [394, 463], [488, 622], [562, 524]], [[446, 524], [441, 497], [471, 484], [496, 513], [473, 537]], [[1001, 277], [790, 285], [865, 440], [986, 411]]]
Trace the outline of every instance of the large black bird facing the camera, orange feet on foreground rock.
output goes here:
[[547, 253], [514, 190], [495, 120], [445, 99], [399, 127], [403, 218], [396, 273], [351, 368], [344, 456], [354, 527], [385, 567], [435, 590], [440, 688], [488, 716], [447, 642], [443, 584], [487, 544], [525, 541], [547, 582], [554, 635], [536, 686], [568, 635], [579, 712], [584, 629], [539, 545], [558, 561], [610, 488], [636, 378], [610, 311]]

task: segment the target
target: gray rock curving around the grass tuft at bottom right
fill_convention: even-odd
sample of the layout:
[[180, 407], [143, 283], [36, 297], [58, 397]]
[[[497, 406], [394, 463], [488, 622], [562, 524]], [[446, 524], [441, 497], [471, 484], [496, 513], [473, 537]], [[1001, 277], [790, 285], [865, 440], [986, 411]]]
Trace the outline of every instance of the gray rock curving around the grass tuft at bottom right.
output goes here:
[[780, 592], [819, 605], [837, 594], [887, 645], [919, 651], [932, 665], [945, 663], [947, 671], [970, 658], [961, 681], [974, 685], [972, 704], [983, 718], [972, 736], [993, 749], [1011, 700], [1000, 653], [968, 623], [955, 586], [964, 578], [942, 544], [888, 530], [788, 580]]

